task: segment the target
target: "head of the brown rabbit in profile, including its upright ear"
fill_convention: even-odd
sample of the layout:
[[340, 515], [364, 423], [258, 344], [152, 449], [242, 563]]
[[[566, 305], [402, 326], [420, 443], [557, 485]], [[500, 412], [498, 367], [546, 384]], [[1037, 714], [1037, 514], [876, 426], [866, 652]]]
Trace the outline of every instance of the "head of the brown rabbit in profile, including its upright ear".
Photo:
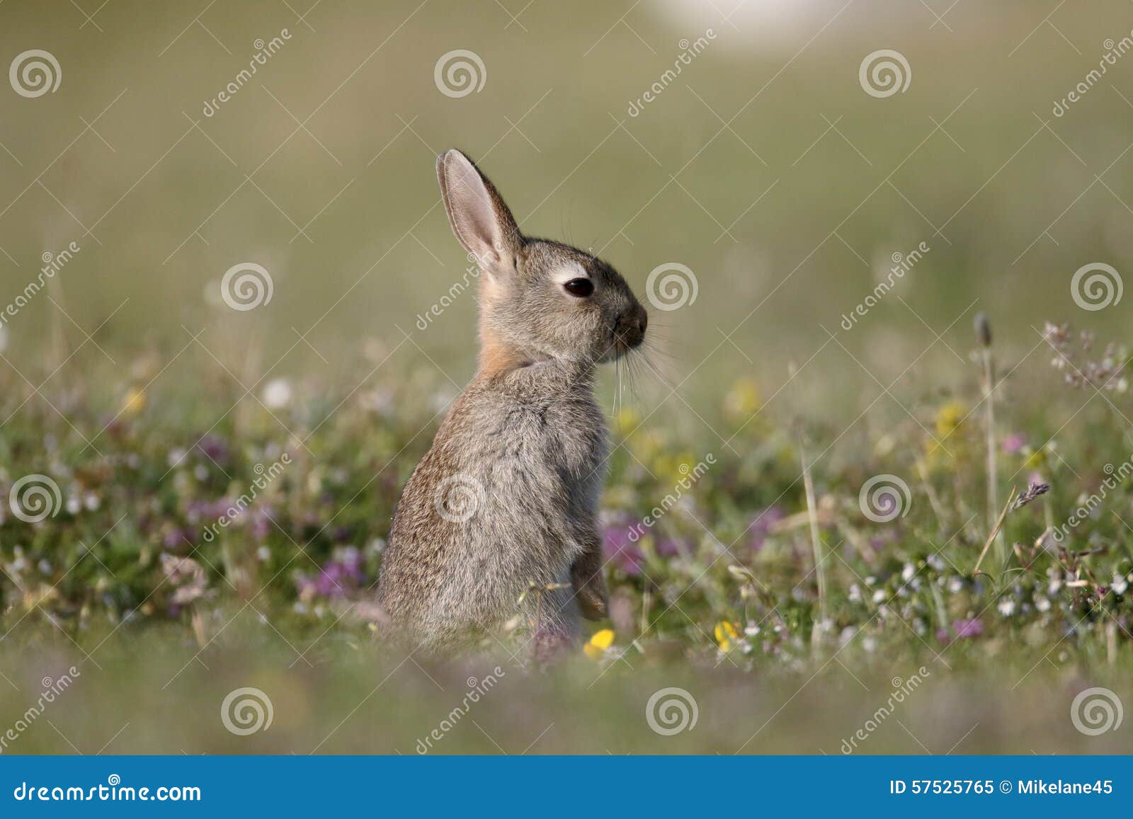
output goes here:
[[465, 154], [436, 161], [452, 232], [480, 276], [482, 366], [552, 359], [597, 364], [645, 339], [645, 308], [612, 266], [578, 248], [525, 237], [511, 211]]

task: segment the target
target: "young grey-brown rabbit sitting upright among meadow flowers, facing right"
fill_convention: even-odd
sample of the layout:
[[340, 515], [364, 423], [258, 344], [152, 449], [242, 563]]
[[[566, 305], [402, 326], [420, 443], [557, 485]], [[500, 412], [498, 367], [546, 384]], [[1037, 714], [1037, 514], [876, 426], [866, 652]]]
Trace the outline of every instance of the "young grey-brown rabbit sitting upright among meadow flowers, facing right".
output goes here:
[[611, 265], [523, 236], [463, 153], [441, 154], [436, 172], [452, 232], [480, 268], [479, 366], [398, 502], [378, 605], [427, 649], [509, 621], [529, 625], [537, 648], [569, 646], [580, 616], [607, 608], [595, 367], [638, 348], [648, 316]]

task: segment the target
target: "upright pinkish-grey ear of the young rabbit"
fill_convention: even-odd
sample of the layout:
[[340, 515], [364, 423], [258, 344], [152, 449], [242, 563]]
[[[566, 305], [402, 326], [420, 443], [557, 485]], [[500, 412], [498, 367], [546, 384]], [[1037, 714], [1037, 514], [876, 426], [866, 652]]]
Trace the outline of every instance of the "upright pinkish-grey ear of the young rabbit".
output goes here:
[[436, 157], [436, 178], [461, 247], [489, 273], [511, 271], [523, 239], [495, 186], [455, 148]]

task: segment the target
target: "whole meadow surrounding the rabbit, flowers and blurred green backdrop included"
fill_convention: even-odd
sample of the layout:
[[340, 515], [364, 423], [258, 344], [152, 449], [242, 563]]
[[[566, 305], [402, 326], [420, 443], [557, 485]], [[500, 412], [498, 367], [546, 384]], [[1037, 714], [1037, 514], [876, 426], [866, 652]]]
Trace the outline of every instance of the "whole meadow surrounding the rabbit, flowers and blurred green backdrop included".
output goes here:
[[[1127, 5], [508, 6], [0, 5], [0, 753], [1133, 750]], [[370, 605], [451, 145], [651, 313], [554, 662]]]

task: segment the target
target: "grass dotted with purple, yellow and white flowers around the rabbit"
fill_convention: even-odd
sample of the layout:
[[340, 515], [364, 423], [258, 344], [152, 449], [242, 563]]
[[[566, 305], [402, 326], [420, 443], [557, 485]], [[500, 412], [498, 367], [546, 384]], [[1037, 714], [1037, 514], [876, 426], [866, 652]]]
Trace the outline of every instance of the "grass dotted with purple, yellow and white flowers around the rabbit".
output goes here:
[[[250, 394], [197, 362], [151, 381], [138, 361], [133, 382], [65, 366], [67, 387], [42, 395], [0, 376], [0, 488], [45, 476], [52, 512], [2, 512], [0, 727], [43, 677], [76, 671], [76, 693], [12, 751], [410, 753], [496, 667], [497, 689], [427, 750], [836, 753], [870, 720], [850, 750], [1128, 750], [1127, 732], [1070, 719], [1091, 685], [1131, 701], [1128, 435], [1101, 402], [1059, 429], [1055, 408], [1083, 393], [1056, 369], [1026, 373], [1041, 408], [1017, 385], [997, 392], [997, 459], [977, 365], [959, 374], [968, 390], [833, 454], [841, 436], [746, 377], [704, 402], [736, 430], [725, 445], [650, 420], [657, 386], [641, 385], [613, 419], [612, 620], [546, 668], [508, 640], [453, 663], [407, 657], [352, 606], [452, 395], [420, 362], [360, 365], [353, 390], [265, 379]], [[16, 495], [24, 518], [42, 511]], [[242, 686], [270, 697], [270, 731], [224, 731], [220, 703]], [[674, 686], [699, 724], [658, 736], [645, 703]]]

